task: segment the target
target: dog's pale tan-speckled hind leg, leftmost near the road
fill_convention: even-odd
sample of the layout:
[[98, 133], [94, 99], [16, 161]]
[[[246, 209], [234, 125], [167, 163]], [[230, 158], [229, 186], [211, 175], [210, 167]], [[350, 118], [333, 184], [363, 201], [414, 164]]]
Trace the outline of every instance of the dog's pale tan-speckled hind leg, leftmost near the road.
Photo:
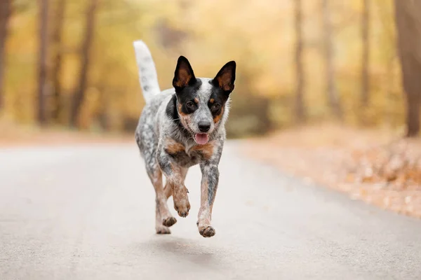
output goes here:
[[152, 184], [155, 188], [156, 193], [156, 210], [155, 210], [155, 216], [156, 216], [156, 233], [158, 234], [166, 234], [171, 233], [168, 227], [171, 227], [171, 225], [174, 225], [177, 223], [177, 220], [171, 215], [168, 205], [166, 203], [167, 197], [165, 193], [163, 192], [162, 187], [162, 173], [160, 169], [157, 169], [156, 172], [152, 175], [149, 175]]

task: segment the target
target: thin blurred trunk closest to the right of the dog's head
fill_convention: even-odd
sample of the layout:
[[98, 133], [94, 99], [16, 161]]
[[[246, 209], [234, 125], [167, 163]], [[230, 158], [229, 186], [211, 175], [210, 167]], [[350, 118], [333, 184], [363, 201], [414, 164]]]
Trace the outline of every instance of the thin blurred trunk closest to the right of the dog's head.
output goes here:
[[301, 0], [293, 0], [295, 3], [295, 121], [304, 123], [306, 118], [304, 104], [305, 77], [303, 66], [303, 36], [302, 36], [302, 5]]

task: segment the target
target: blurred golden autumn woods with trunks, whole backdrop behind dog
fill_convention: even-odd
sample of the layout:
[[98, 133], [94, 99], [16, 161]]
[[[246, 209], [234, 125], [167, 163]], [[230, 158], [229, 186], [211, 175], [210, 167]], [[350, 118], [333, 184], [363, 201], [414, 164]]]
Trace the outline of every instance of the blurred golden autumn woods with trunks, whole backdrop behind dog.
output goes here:
[[[408, 42], [397, 40], [408, 32], [397, 36], [394, 4], [4, 0], [1, 116], [132, 132], [144, 104], [132, 45], [141, 38], [162, 89], [171, 87], [180, 55], [198, 76], [215, 76], [236, 60], [230, 136], [263, 134], [298, 119], [399, 128], [408, 114], [398, 45]], [[417, 13], [403, 7], [403, 18], [408, 10]]]

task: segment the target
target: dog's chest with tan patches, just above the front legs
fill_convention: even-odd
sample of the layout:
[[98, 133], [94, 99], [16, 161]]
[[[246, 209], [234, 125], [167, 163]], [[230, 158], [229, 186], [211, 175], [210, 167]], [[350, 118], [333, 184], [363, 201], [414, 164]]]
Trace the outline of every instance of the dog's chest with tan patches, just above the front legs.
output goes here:
[[184, 145], [170, 142], [166, 145], [166, 153], [181, 167], [191, 167], [199, 162], [209, 160], [213, 155], [214, 144], [197, 145], [186, 149]]

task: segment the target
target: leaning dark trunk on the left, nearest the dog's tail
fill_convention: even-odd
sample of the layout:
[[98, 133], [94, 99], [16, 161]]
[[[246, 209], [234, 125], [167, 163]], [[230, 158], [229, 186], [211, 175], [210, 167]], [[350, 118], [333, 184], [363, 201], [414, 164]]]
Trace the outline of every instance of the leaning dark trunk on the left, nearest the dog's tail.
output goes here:
[[78, 117], [85, 97], [86, 84], [88, 80], [89, 64], [91, 62], [91, 48], [93, 42], [93, 31], [95, 29], [95, 11], [98, 6], [98, 0], [91, 0], [86, 13], [86, 31], [85, 38], [81, 48], [81, 71], [79, 76], [79, 86], [74, 94], [72, 111], [70, 112], [70, 125], [78, 126]]

